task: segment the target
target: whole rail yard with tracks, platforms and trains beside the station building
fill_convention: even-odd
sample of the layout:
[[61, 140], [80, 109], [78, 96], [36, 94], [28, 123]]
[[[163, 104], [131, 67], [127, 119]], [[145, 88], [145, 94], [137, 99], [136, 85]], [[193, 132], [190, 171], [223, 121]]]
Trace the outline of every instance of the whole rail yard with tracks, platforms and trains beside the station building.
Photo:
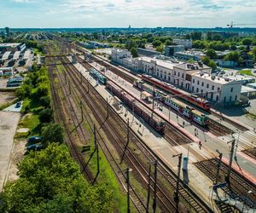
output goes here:
[[[239, 211], [228, 204], [233, 199], [247, 210], [255, 208], [252, 128], [195, 95], [191, 99], [171, 92], [171, 85], [160, 86], [160, 81], [128, 72], [76, 44], [53, 39], [60, 50], [48, 46], [45, 64], [55, 119], [64, 124], [70, 152], [92, 184], [101, 169], [99, 162], [84, 161], [84, 147], [96, 156], [102, 150], [138, 212]], [[230, 164], [229, 147], [236, 149], [238, 166]], [[241, 161], [244, 156], [247, 162]], [[214, 195], [209, 198], [209, 193]], [[229, 202], [219, 202], [224, 194]]]

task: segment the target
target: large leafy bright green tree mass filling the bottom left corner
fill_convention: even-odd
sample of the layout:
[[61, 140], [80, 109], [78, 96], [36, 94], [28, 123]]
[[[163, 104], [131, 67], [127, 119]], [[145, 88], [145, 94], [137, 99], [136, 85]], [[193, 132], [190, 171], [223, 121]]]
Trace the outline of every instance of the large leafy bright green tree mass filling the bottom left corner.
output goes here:
[[90, 186], [63, 145], [29, 153], [18, 169], [0, 195], [1, 212], [113, 212], [111, 188]]

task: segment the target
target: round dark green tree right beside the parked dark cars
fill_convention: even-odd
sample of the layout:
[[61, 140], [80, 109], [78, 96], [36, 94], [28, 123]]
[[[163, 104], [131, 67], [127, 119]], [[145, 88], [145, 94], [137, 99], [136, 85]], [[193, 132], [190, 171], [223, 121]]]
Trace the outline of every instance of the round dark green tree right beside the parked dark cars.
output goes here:
[[42, 129], [42, 141], [47, 142], [64, 142], [64, 129], [61, 124], [48, 124]]

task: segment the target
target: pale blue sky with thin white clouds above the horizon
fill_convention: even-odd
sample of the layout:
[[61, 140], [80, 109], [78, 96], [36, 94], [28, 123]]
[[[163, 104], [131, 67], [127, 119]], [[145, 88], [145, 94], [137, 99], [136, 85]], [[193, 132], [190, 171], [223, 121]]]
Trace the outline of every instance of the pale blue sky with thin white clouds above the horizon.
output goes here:
[[0, 11], [0, 28], [256, 27], [256, 0], [0, 0]]

